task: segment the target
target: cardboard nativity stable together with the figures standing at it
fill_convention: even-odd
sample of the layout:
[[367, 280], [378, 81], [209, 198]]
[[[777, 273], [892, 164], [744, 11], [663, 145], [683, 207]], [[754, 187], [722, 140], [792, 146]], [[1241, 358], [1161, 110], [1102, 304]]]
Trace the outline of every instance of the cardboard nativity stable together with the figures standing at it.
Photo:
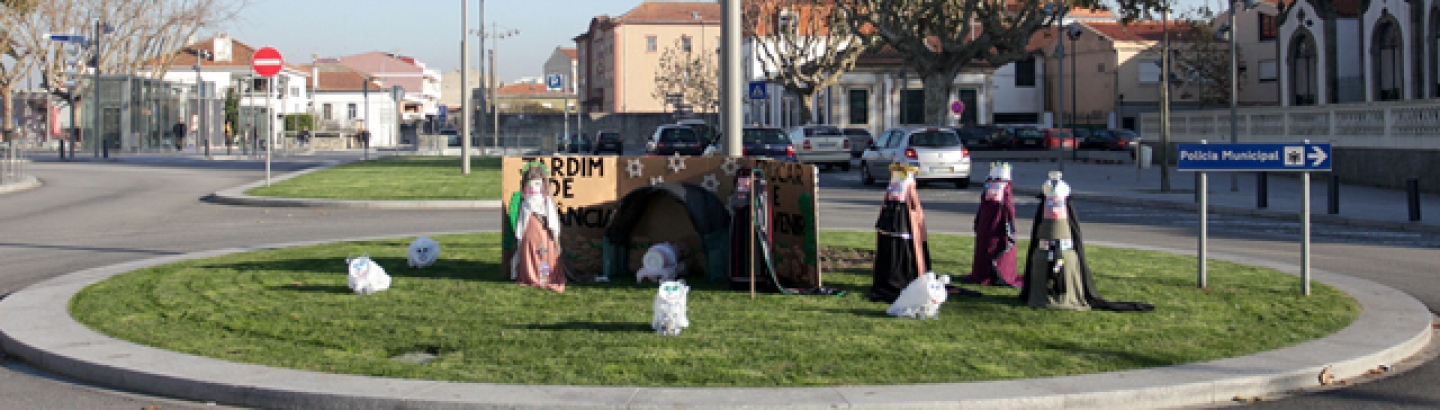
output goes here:
[[[508, 157], [501, 170], [508, 260], [501, 266], [521, 285], [563, 292], [569, 281], [635, 275], [636, 282], [711, 279], [737, 291], [838, 293], [821, 282], [811, 165], [557, 155]], [[672, 322], [680, 325], [668, 334], [685, 324]]]

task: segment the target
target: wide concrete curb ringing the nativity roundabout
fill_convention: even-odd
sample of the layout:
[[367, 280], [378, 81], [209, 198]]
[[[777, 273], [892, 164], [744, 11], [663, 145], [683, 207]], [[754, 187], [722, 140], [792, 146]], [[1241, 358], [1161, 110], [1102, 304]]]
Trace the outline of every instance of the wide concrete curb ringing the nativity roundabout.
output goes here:
[[[386, 236], [396, 237], [396, 236]], [[796, 388], [655, 388], [444, 383], [324, 374], [179, 354], [96, 334], [68, 314], [69, 299], [85, 286], [147, 266], [235, 252], [325, 242], [284, 243], [154, 258], [58, 276], [0, 301], [0, 347], [39, 368], [109, 386], [225, 404], [284, 409], [557, 409], [557, 407], [716, 407], [716, 409], [1135, 409], [1228, 403], [1318, 387], [1331, 367], [1351, 378], [1421, 351], [1431, 338], [1423, 304], [1365, 279], [1313, 270], [1315, 281], [1356, 301], [1359, 318], [1339, 332], [1295, 347], [1133, 371], [1051, 378]], [[1099, 243], [1182, 253], [1181, 250]], [[1295, 266], [1214, 255], [1237, 263], [1297, 275]]]

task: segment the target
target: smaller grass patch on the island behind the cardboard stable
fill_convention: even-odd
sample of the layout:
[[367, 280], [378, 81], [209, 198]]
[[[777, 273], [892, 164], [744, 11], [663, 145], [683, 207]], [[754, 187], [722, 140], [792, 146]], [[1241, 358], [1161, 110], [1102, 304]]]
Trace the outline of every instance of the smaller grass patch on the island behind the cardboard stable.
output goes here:
[[386, 157], [320, 170], [246, 191], [261, 197], [331, 200], [494, 200], [500, 199], [500, 158]]

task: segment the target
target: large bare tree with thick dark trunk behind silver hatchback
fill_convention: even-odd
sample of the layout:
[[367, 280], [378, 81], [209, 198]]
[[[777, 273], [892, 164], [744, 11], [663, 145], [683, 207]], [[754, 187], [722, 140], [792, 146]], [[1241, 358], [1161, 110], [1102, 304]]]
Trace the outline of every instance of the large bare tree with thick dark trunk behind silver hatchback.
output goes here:
[[[1061, 22], [1070, 7], [1104, 9], [1102, 0], [835, 0], [851, 29], [873, 29], [924, 81], [924, 121], [943, 124], [955, 76], [1031, 56], [1031, 35]], [[1126, 20], [1165, 7], [1162, 0], [1117, 0]], [[984, 68], [976, 63], [985, 63]]]

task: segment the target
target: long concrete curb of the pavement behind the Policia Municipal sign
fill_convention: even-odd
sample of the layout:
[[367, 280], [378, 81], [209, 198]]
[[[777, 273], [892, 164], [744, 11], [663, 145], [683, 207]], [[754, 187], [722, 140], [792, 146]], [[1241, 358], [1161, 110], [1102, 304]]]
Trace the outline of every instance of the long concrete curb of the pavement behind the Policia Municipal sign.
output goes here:
[[[1037, 190], [1037, 188], [1012, 187], [1012, 190], [1014, 190], [1015, 196], [1038, 196], [1038, 194], [1041, 194], [1041, 191]], [[1155, 200], [1155, 199], [1116, 197], [1116, 196], [1090, 194], [1090, 193], [1071, 193], [1070, 197], [1071, 199], [1077, 199], [1077, 200], [1097, 201], [1097, 203], [1110, 203], [1110, 204], [1126, 204], [1126, 206], [1143, 206], [1143, 207], [1158, 207], [1158, 209], [1171, 209], [1171, 210], [1200, 211], [1200, 204], [1197, 204], [1197, 203], [1188, 203], [1188, 201], [1169, 201], [1169, 200]], [[1211, 214], [1234, 214], [1234, 216], [1251, 216], [1251, 217], [1263, 217], [1263, 219], [1273, 219], [1273, 220], [1300, 222], [1300, 214], [1299, 213], [1286, 213], [1286, 211], [1274, 211], [1274, 210], [1257, 210], [1257, 209], [1210, 206], [1210, 213]], [[1403, 230], [1403, 232], [1440, 233], [1440, 226], [1430, 226], [1430, 224], [1424, 224], [1424, 223], [1418, 223], [1418, 222], [1410, 222], [1410, 223], [1407, 223], [1407, 222], [1388, 222], [1388, 220], [1367, 220], [1367, 219], [1355, 219], [1355, 217], [1333, 216], [1333, 214], [1323, 214], [1323, 213], [1322, 214], [1316, 214], [1316, 213], [1313, 213], [1313, 209], [1312, 209], [1312, 213], [1310, 213], [1310, 222], [1312, 223], [1331, 223], [1331, 224], [1354, 226], [1354, 227], [1371, 227], [1371, 229], [1387, 229], [1387, 230]]]

